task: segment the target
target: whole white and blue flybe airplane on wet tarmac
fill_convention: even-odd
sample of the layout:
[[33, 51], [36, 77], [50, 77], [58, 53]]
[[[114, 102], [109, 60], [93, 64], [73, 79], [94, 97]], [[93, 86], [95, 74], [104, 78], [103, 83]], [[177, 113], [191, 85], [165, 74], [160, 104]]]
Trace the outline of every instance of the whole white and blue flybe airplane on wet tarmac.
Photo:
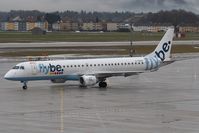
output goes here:
[[172, 63], [170, 58], [174, 29], [169, 28], [155, 50], [143, 57], [65, 59], [49, 61], [22, 62], [9, 70], [4, 78], [23, 83], [35, 80], [50, 80], [64, 83], [68, 80], [79, 81], [80, 86], [107, 87], [106, 79], [112, 76], [133, 76], [144, 72], [157, 71]]

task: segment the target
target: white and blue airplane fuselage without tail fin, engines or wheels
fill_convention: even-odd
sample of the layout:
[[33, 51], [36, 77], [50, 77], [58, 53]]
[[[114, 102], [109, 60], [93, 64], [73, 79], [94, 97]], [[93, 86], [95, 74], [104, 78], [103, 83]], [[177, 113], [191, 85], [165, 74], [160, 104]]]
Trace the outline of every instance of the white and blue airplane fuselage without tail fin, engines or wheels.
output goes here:
[[156, 69], [159, 64], [158, 59], [151, 60], [144, 57], [34, 61], [17, 64], [16, 68], [5, 75], [5, 78], [15, 81], [79, 80], [82, 75], [122, 76], [128, 73], [141, 73]]

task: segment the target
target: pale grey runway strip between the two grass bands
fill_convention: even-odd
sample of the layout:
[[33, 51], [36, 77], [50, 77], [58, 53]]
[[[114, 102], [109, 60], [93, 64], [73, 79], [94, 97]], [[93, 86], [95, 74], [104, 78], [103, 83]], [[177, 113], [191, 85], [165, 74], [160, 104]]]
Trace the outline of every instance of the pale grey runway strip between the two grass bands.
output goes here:
[[[133, 41], [133, 45], [157, 45], [159, 41]], [[174, 45], [198, 45], [199, 40], [173, 41]], [[81, 47], [81, 46], [129, 46], [129, 41], [123, 42], [46, 42], [46, 43], [0, 43], [0, 49], [16, 48], [52, 48], [52, 47]]]

